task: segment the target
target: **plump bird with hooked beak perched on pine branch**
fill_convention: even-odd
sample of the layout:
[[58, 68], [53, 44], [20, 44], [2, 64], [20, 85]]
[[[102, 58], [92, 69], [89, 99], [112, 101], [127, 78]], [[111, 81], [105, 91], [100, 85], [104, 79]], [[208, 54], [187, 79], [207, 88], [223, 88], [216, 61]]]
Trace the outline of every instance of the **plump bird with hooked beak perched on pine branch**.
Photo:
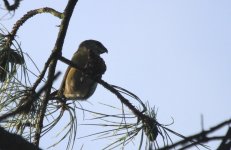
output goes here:
[[103, 53], [108, 50], [99, 41], [83, 41], [71, 59], [79, 68], [68, 66], [56, 95], [66, 100], [87, 100], [92, 96], [98, 84], [95, 79], [101, 79], [106, 71], [106, 64], [100, 57]]

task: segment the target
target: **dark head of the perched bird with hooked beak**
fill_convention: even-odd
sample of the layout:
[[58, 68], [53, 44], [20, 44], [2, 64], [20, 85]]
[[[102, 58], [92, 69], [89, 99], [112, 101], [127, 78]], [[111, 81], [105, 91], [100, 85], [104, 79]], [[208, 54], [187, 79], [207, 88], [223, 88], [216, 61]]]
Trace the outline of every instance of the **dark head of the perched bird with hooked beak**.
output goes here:
[[103, 54], [103, 53], [107, 53], [108, 50], [106, 49], [106, 47], [103, 46], [102, 43], [100, 43], [99, 41], [96, 40], [86, 40], [83, 41], [79, 47], [86, 47], [87, 49], [90, 49], [92, 52], [94, 52], [97, 55]]

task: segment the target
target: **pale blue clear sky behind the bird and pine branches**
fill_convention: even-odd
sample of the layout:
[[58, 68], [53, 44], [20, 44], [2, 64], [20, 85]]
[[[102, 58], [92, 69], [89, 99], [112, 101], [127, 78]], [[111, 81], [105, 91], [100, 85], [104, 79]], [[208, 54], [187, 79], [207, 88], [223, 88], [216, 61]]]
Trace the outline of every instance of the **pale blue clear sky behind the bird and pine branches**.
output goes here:
[[[5, 16], [1, 23], [11, 30], [27, 11], [45, 6], [63, 11], [66, 1], [24, 0], [13, 18]], [[230, 0], [80, 0], [63, 55], [71, 58], [83, 40], [101, 41], [109, 50], [103, 55], [107, 64], [103, 79], [158, 108], [159, 122], [171, 123], [173, 117], [170, 128], [191, 135], [201, 131], [202, 114], [205, 129], [231, 115], [230, 8]], [[4, 13], [1, 10], [0, 17]], [[54, 46], [59, 23], [50, 14], [38, 15], [17, 34], [23, 50], [40, 69]], [[58, 70], [64, 74], [65, 69], [66, 65], [59, 63]], [[54, 86], [58, 88], [61, 80]], [[89, 101], [112, 105], [117, 99], [98, 86]], [[104, 146], [85, 141], [83, 149]], [[48, 143], [45, 139], [41, 147], [45, 149]], [[79, 146], [81, 143], [76, 149]], [[62, 144], [55, 149], [64, 147]]]

